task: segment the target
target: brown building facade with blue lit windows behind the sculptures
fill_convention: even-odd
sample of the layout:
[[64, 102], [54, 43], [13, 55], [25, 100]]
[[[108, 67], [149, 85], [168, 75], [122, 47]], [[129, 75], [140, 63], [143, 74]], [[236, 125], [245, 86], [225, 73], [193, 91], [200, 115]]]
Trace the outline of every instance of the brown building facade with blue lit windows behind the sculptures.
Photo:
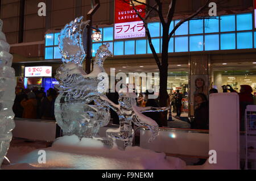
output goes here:
[[[38, 15], [39, 2], [46, 3], [46, 16]], [[168, 1], [163, 2], [163, 12], [167, 13]], [[256, 92], [254, 1], [220, 2], [217, 3], [217, 16], [209, 17], [208, 9], [203, 11], [199, 18], [189, 20], [178, 28], [169, 43], [167, 91], [183, 91], [186, 95], [183, 108], [184, 111], [190, 110], [191, 115], [193, 94], [199, 88], [199, 79], [203, 81], [205, 94], [212, 87], [222, 92], [222, 85], [230, 85], [239, 91], [240, 85], [244, 84], [250, 85]], [[159, 73], [147, 38], [115, 40], [114, 0], [101, 0], [100, 3], [100, 9], [93, 16], [93, 26], [101, 30], [102, 40], [93, 42], [93, 56], [100, 45], [109, 43], [114, 57], [105, 62], [108, 73], [110, 69], [127, 74]], [[204, 3], [201, 0], [177, 1], [170, 30]], [[90, 9], [88, 0], [2, 0], [3, 32], [11, 44], [16, 77], [23, 78], [27, 66], [51, 66], [53, 78], [61, 64], [58, 33], [76, 17], [86, 17]], [[148, 22], [152, 43], [160, 55], [162, 27], [159, 18], [152, 14]], [[40, 80], [38, 85], [43, 86]], [[141, 82], [137, 90], [145, 91], [146, 85]]]

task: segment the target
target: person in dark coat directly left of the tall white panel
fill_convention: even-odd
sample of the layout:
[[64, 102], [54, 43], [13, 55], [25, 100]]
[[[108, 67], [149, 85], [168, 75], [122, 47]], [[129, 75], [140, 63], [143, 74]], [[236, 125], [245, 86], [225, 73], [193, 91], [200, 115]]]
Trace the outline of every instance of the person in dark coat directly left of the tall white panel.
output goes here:
[[203, 93], [195, 95], [195, 119], [191, 123], [192, 129], [209, 129], [209, 104]]

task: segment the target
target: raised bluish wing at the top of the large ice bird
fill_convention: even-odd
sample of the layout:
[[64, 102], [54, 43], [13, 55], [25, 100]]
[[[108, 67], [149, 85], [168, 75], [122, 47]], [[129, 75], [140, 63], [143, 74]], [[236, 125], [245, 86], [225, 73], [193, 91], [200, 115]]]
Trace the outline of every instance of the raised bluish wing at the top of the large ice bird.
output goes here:
[[63, 63], [74, 62], [82, 65], [86, 57], [82, 44], [83, 31], [89, 24], [89, 20], [82, 22], [84, 17], [76, 18], [61, 30], [59, 35], [59, 48], [62, 54]]

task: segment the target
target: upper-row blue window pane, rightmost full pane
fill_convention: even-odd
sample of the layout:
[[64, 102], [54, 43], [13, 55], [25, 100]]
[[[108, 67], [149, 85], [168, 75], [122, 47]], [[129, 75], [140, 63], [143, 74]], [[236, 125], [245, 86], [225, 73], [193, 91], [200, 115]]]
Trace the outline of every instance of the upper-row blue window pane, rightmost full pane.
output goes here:
[[237, 15], [237, 31], [253, 29], [253, 15], [251, 13]]

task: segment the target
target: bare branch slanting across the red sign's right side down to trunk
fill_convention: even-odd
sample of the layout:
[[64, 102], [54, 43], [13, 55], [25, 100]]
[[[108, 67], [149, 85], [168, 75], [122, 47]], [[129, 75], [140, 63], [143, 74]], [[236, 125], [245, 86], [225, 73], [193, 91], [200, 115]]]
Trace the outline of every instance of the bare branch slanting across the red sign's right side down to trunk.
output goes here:
[[156, 64], [158, 65], [158, 68], [160, 70], [161, 63], [160, 63], [158, 54], [156, 54], [155, 47], [152, 44], [152, 39], [151, 39], [151, 35], [150, 35], [150, 32], [149, 32], [148, 27], [147, 27], [147, 22], [146, 22], [146, 20], [144, 18], [142, 18], [141, 14], [139, 14], [138, 10], [135, 8], [135, 5], [134, 5], [133, 1], [131, 1], [131, 5], [133, 6], [134, 11], [137, 13], [139, 18], [141, 18], [141, 20], [143, 21], [143, 26], [144, 26], [146, 34], [147, 34], [148, 44], [150, 45], [150, 49], [151, 49], [152, 54], [153, 54], [153, 56], [155, 58]]

